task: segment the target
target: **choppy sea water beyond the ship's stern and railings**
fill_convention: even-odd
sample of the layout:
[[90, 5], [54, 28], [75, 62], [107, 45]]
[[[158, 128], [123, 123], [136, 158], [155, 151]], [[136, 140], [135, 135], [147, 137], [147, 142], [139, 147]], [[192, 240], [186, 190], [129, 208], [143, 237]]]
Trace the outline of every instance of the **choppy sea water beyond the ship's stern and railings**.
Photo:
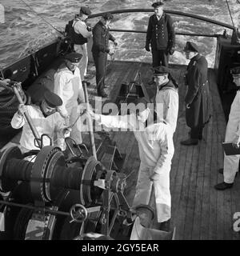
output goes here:
[[[24, 3], [26, 2], [26, 3]], [[89, 6], [93, 14], [111, 10], [146, 8], [152, 9], [154, 1], [146, 0], [0, 0], [0, 67], [9, 65], [18, 58], [37, 50], [40, 46], [51, 42], [63, 31], [66, 23], [79, 12], [81, 6]], [[228, 0], [234, 26], [240, 26], [240, 1]], [[28, 6], [26, 6], [26, 4]], [[165, 10], [177, 10], [190, 14], [198, 14], [219, 22], [233, 25], [226, 0], [168, 0]], [[114, 14], [112, 29], [146, 31], [149, 13]], [[44, 22], [42, 18], [47, 22]], [[222, 34], [224, 27], [201, 22], [194, 18], [179, 17], [171, 14], [176, 32], [198, 34]], [[90, 19], [94, 26], [99, 18]], [[231, 34], [231, 30], [227, 30]], [[151, 62], [151, 54], [144, 49], [146, 34], [113, 32], [118, 40], [115, 59]], [[182, 52], [186, 41], [196, 42], [209, 62], [214, 66], [216, 38], [176, 36], [176, 50], [170, 56], [170, 62], [186, 64]]]

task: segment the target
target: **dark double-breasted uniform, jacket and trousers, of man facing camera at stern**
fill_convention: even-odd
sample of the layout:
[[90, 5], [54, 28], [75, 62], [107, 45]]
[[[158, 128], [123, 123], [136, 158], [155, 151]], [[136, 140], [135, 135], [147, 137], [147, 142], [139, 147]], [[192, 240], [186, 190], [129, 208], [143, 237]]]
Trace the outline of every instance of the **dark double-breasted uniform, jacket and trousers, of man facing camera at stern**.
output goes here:
[[152, 50], [153, 67], [168, 66], [169, 54], [174, 53], [175, 46], [174, 25], [170, 15], [163, 13], [159, 20], [155, 14], [150, 16], [146, 47], [149, 45]]

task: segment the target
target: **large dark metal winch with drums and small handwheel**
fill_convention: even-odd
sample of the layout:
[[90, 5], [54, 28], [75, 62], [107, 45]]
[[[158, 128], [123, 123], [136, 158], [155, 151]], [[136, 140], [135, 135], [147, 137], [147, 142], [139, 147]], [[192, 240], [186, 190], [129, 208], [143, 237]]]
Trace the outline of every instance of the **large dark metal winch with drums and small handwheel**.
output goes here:
[[117, 219], [119, 224], [131, 218], [125, 174], [107, 170], [93, 156], [66, 161], [60, 148], [45, 146], [30, 162], [13, 146], [1, 155], [0, 177], [0, 190], [8, 194], [0, 207], [10, 238], [110, 236]]

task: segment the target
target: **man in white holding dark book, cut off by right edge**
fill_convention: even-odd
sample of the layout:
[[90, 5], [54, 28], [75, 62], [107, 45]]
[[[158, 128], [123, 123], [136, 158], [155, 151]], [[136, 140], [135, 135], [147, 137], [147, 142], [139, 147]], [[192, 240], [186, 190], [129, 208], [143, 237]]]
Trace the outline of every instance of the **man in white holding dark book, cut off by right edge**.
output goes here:
[[[231, 69], [234, 83], [238, 87], [234, 102], [231, 105], [229, 119], [226, 126], [225, 142], [232, 142], [233, 146], [239, 148], [240, 145], [240, 66]], [[216, 190], [230, 189], [234, 185], [234, 178], [238, 172], [240, 154], [224, 154], [223, 169], [218, 170], [223, 174], [224, 181], [214, 186]]]

